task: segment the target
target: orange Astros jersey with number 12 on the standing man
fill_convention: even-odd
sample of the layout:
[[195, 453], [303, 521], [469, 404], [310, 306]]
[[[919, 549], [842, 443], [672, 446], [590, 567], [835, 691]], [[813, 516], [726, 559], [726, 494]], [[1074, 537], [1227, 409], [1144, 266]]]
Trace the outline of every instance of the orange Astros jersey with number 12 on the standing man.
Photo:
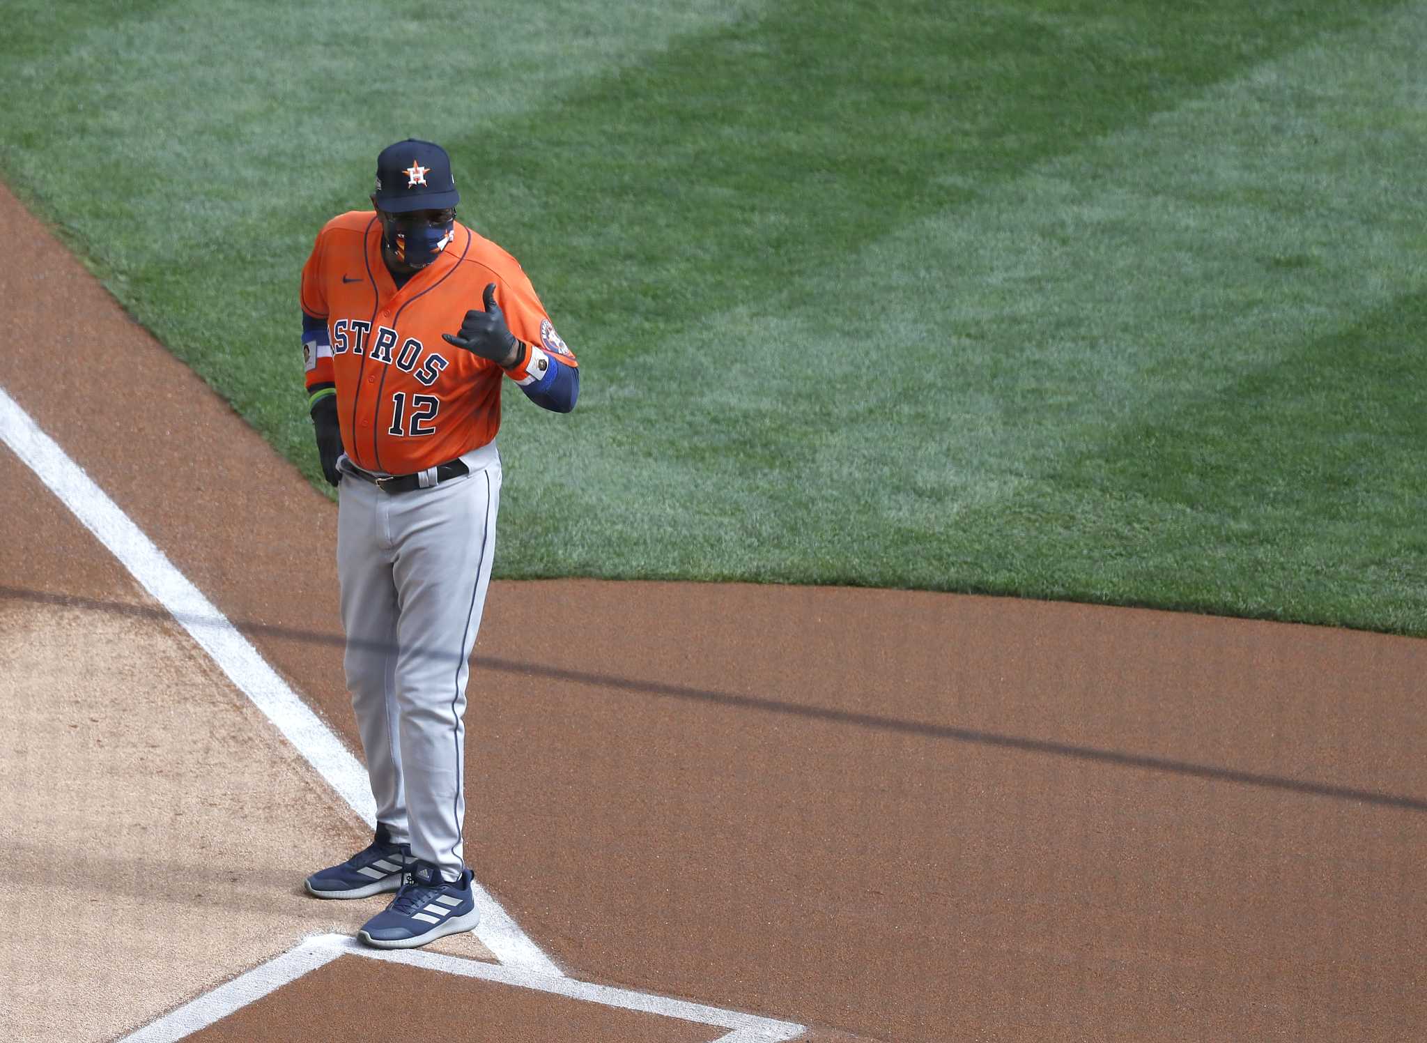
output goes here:
[[411, 474], [495, 437], [502, 374], [528, 383], [539, 351], [501, 370], [441, 339], [482, 307], [491, 283], [515, 337], [578, 366], [519, 263], [459, 221], [445, 250], [400, 290], [381, 259], [375, 211], [341, 214], [318, 233], [301, 304], [327, 321], [330, 344], [304, 344], [307, 387], [335, 384], [342, 447], [358, 467]]

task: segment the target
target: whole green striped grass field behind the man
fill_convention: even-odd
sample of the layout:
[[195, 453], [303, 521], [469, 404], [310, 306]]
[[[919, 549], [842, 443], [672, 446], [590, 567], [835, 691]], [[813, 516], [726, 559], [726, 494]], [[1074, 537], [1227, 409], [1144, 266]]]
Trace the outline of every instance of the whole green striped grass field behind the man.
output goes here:
[[499, 576], [1427, 634], [1424, 3], [11, 7], [0, 173], [314, 480], [301, 263], [450, 149], [584, 367]]

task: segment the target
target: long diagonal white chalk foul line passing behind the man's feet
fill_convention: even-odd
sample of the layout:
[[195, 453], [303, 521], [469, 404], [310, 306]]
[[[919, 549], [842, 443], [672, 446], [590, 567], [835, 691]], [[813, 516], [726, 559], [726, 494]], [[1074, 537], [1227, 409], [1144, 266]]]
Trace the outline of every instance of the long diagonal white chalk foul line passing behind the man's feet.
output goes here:
[[[60, 497], [84, 527], [108, 547], [138, 584], [167, 609], [198, 646], [228, 676], [297, 752], [337, 790], [367, 823], [377, 826], [377, 806], [367, 782], [367, 769], [342, 746], [332, 730], [313, 713], [277, 670], [268, 666], [247, 637], [143, 530], [94, 484], [84, 470], [30, 419], [0, 387], [0, 440]], [[531, 942], [519, 924], [478, 882], [472, 882], [481, 926], [475, 934], [501, 963], [542, 974], [559, 974], [559, 967]]]

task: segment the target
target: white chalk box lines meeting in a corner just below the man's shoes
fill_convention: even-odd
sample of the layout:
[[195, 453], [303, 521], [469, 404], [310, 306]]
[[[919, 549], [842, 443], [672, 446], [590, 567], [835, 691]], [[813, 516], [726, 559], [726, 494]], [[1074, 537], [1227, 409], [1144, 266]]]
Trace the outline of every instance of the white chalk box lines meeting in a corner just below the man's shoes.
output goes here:
[[524, 967], [505, 967], [497, 963], [440, 956], [420, 949], [377, 950], [368, 949], [345, 934], [315, 934], [297, 946], [297, 949], [200, 996], [193, 1003], [178, 1007], [131, 1036], [126, 1036], [123, 1043], [173, 1043], [173, 1040], [180, 1040], [250, 1003], [255, 1003], [288, 982], [294, 982], [331, 963], [338, 956], [361, 956], [368, 960], [404, 963], [408, 967], [438, 970], [447, 974], [459, 974], [461, 977], [478, 977], [484, 982], [497, 982], [517, 989], [532, 989], [554, 996], [565, 996], [572, 1000], [598, 1003], [605, 1007], [635, 1010], [645, 1014], [662, 1014], [664, 1017], [674, 1017], [681, 1022], [729, 1029], [726, 1034], [711, 1040], [711, 1043], [773, 1043], [775, 1040], [789, 1040], [803, 1032], [803, 1026], [801, 1024], [775, 1022], [771, 1017], [739, 1014], [733, 1010], [709, 1007], [702, 1003], [672, 1000], [666, 996], [577, 982], [565, 976], [541, 974]]

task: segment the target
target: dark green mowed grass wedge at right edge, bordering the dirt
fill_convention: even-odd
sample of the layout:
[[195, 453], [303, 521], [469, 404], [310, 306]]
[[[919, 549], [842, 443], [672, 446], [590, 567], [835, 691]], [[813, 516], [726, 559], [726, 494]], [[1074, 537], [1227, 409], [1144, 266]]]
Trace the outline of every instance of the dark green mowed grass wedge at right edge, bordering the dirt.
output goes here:
[[[1025, 524], [1006, 529], [1022, 553], [1072, 519], [1083, 546], [1133, 550], [1079, 552], [1066, 577], [1082, 586], [1047, 594], [1139, 603], [1154, 589], [1159, 607], [1424, 634], [1424, 329], [1417, 289], [1147, 411], [1009, 504]], [[1106, 490], [1113, 511], [1092, 507]]]

